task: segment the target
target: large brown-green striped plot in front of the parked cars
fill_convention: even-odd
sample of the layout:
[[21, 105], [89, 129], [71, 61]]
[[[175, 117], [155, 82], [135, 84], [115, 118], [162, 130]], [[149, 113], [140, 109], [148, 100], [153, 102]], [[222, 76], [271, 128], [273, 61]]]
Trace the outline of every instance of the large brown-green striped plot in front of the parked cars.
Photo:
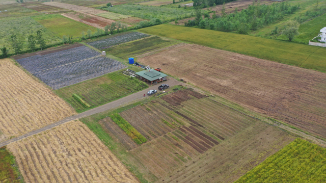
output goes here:
[[118, 158], [150, 182], [232, 182], [294, 139], [189, 89], [119, 115], [148, 142], [137, 145], [104, 114], [99, 121], [82, 120], [106, 140], [103, 128]]

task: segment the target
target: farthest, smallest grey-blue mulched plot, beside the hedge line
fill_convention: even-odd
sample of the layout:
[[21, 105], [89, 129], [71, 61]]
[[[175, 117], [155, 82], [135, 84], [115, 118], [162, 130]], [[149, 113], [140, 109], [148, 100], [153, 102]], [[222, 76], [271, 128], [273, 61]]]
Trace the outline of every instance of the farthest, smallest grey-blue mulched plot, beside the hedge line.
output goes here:
[[97, 49], [102, 50], [102, 49], [106, 49], [106, 48], [109, 48], [109, 47], [117, 45], [117, 44], [134, 41], [134, 40], [145, 38], [148, 36], [149, 35], [147, 35], [147, 34], [143, 34], [143, 33], [139, 33], [139, 32], [130, 32], [128, 34], [124, 34], [121, 36], [116, 36], [116, 37], [112, 37], [112, 38], [89, 42], [87, 44], [89, 44]]

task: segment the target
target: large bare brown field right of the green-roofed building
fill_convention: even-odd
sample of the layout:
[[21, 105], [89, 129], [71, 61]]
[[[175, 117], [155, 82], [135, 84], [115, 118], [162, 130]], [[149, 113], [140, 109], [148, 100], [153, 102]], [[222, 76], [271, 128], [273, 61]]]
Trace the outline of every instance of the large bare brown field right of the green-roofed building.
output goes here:
[[325, 73], [196, 44], [167, 49], [138, 62], [326, 137]]

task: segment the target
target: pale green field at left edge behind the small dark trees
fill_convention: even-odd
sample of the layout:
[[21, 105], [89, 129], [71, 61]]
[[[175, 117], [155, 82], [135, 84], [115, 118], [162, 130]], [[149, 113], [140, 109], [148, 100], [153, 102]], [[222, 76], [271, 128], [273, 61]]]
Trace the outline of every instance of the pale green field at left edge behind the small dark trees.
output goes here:
[[36, 31], [41, 30], [47, 45], [60, 43], [61, 40], [44, 28], [31, 17], [0, 19], [0, 47], [9, 48], [9, 53], [14, 53], [10, 36], [14, 33], [23, 42], [23, 49], [27, 49], [26, 38], [29, 35], [36, 36]]

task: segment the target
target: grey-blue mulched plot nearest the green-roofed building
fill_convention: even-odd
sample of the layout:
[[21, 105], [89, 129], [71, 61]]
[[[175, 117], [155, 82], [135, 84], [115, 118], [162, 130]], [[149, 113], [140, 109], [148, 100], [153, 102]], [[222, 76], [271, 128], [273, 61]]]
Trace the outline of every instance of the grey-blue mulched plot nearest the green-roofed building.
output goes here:
[[125, 65], [122, 65], [116, 60], [99, 56], [37, 72], [34, 75], [46, 85], [56, 90], [125, 67]]

